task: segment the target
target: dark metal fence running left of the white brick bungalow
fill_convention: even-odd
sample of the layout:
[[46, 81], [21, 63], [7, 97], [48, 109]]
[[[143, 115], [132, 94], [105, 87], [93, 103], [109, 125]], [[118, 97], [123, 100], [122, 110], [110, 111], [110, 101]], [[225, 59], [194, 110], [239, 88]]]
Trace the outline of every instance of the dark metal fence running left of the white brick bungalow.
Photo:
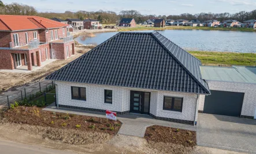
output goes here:
[[[44, 97], [44, 93], [49, 94], [46, 95], [47, 97]], [[53, 94], [50, 95], [50, 93]], [[26, 84], [22, 87], [14, 88], [3, 93], [0, 95], [0, 106], [10, 108], [10, 104], [14, 104], [15, 102], [28, 106], [37, 104], [38, 106], [44, 106], [49, 105], [50, 102], [55, 102], [52, 98], [53, 96], [55, 97], [55, 85], [53, 81], [43, 80], [40, 82]]]

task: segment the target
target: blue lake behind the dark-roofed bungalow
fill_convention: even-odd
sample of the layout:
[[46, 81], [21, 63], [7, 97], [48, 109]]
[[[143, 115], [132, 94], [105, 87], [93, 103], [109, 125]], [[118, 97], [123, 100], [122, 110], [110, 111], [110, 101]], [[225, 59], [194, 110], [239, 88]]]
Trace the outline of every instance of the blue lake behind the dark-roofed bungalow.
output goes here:
[[[203, 30], [165, 30], [158, 32], [185, 50], [256, 53], [255, 32]], [[116, 33], [118, 32], [95, 33], [91, 36], [79, 36], [75, 40], [81, 44], [98, 45]]]

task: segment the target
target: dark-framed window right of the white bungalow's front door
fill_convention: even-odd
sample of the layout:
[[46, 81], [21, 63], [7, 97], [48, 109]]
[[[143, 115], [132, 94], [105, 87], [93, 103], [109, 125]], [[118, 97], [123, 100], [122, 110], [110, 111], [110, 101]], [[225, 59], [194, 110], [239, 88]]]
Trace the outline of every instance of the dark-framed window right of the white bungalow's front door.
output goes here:
[[182, 112], [183, 98], [164, 96], [163, 110]]

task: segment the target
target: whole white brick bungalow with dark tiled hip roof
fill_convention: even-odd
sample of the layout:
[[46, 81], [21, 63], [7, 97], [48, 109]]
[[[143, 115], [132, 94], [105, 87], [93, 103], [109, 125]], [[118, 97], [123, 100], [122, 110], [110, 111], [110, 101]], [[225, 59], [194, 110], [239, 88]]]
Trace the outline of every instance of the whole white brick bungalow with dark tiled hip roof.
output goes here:
[[200, 65], [158, 32], [120, 32], [46, 80], [56, 84], [58, 107], [149, 114], [193, 125], [199, 97], [210, 94]]

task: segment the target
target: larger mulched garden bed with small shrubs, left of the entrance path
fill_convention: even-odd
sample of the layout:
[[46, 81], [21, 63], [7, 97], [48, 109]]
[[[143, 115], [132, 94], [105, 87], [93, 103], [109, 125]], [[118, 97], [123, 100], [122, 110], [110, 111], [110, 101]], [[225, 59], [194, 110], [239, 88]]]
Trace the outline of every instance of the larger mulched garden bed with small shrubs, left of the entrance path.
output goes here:
[[106, 118], [88, 117], [85, 115], [65, 114], [43, 111], [39, 107], [17, 106], [3, 112], [8, 122], [28, 125], [53, 127], [57, 129], [76, 129], [83, 132], [102, 132], [114, 135], [121, 127], [121, 122]]

